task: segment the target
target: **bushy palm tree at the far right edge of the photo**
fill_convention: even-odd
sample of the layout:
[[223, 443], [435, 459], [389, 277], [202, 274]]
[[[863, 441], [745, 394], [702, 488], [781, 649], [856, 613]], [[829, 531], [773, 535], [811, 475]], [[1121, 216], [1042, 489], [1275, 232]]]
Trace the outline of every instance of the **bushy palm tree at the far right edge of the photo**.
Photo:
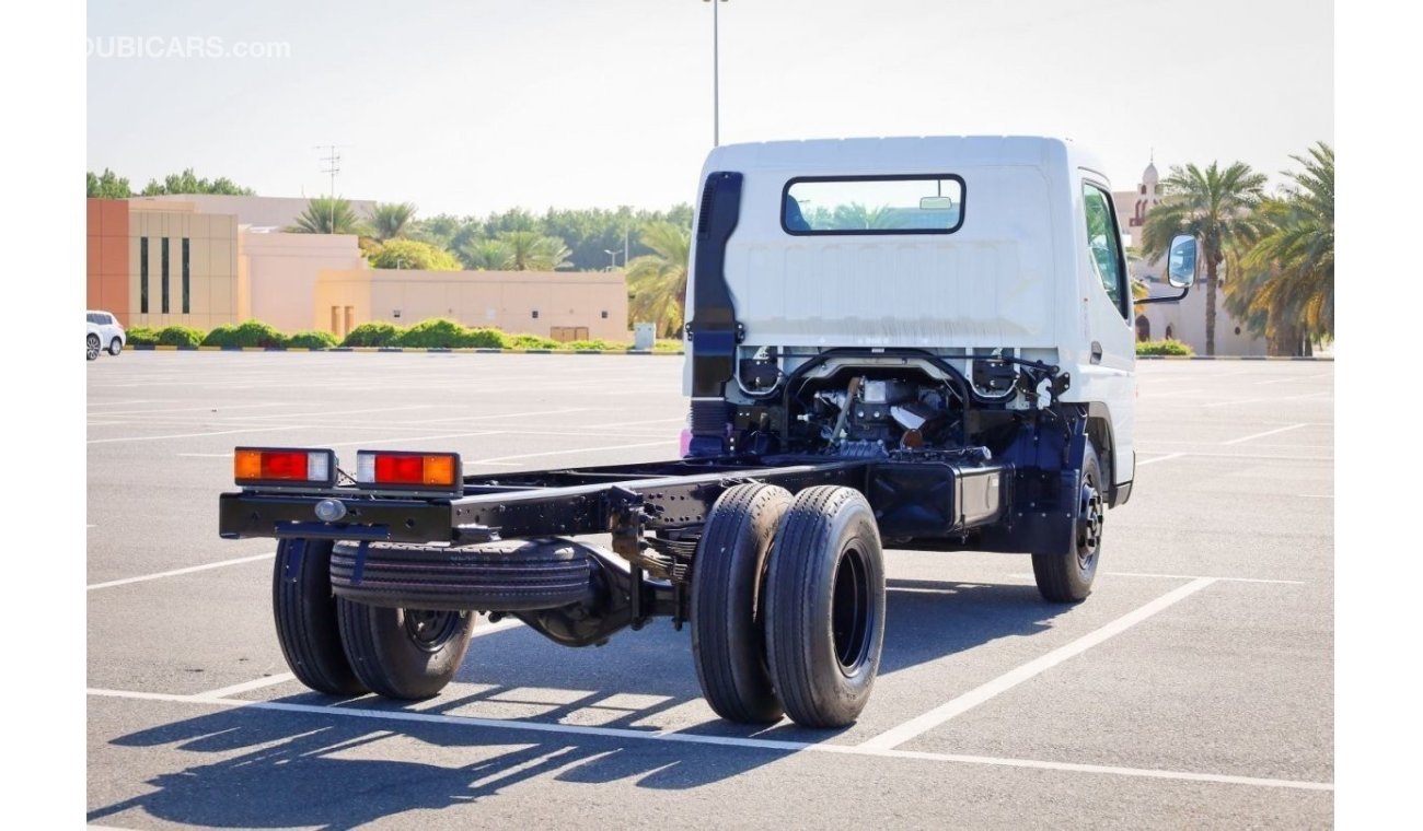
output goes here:
[[1333, 148], [1319, 142], [1308, 159], [1291, 158], [1303, 172], [1286, 172], [1288, 192], [1261, 210], [1264, 234], [1244, 264], [1257, 274], [1249, 310], [1294, 324], [1286, 337], [1298, 349], [1333, 337]]

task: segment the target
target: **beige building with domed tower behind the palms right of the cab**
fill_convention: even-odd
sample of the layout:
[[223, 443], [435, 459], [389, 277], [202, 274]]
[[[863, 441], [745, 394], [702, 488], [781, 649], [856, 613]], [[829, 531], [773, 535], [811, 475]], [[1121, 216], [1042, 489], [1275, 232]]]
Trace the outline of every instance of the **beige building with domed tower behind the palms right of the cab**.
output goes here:
[[[1113, 207], [1117, 212], [1117, 224], [1124, 229], [1131, 247], [1141, 247], [1141, 233], [1146, 227], [1147, 213], [1160, 205], [1161, 196], [1157, 193], [1160, 185], [1155, 162], [1147, 165], [1141, 173], [1141, 182], [1136, 190], [1118, 190], [1111, 195]], [[1177, 294], [1170, 288], [1161, 276], [1161, 261], [1147, 263], [1131, 260], [1128, 271], [1136, 280], [1144, 280], [1151, 287], [1153, 295]], [[1268, 344], [1264, 338], [1257, 338], [1245, 328], [1245, 324], [1235, 320], [1225, 311], [1225, 281], [1229, 274], [1224, 264], [1220, 271], [1221, 286], [1215, 293], [1215, 354], [1217, 355], [1266, 355]], [[1175, 338], [1190, 344], [1197, 355], [1205, 354], [1205, 278], [1204, 270], [1201, 283], [1191, 288], [1181, 303], [1153, 303], [1137, 307], [1137, 340], [1160, 341]]]

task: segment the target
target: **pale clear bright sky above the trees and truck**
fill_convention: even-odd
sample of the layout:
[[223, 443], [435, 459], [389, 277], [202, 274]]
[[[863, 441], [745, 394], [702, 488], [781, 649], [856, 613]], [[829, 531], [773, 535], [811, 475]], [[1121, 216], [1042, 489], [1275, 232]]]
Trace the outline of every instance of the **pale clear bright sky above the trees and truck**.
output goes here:
[[[1275, 178], [1333, 142], [1328, 0], [730, 0], [720, 33], [723, 143], [1060, 135], [1128, 189], [1153, 148]], [[339, 193], [423, 216], [665, 207], [712, 145], [703, 0], [91, 0], [85, 54], [88, 168], [135, 189], [320, 195], [336, 143]]]

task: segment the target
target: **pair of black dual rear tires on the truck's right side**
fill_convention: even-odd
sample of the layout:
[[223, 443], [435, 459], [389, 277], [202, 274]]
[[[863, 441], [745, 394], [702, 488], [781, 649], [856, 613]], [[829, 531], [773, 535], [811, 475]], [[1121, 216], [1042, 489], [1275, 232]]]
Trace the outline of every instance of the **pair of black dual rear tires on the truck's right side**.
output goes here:
[[729, 489], [693, 560], [690, 619], [697, 678], [721, 717], [851, 724], [884, 645], [884, 555], [865, 497]]

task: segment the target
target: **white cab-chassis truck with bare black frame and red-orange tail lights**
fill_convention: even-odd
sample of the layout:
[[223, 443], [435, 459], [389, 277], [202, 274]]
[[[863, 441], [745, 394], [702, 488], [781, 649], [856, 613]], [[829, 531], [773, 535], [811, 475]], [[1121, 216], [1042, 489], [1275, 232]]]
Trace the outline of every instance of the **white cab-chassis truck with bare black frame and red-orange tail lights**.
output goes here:
[[[280, 540], [302, 682], [435, 695], [478, 612], [566, 646], [669, 617], [720, 716], [837, 727], [878, 672], [884, 547], [1029, 554], [1043, 598], [1087, 597], [1134, 476], [1101, 165], [1046, 138], [729, 145], [699, 196], [680, 459], [464, 476], [455, 453], [351, 473], [236, 450], [221, 534]], [[1195, 263], [1178, 237], [1163, 300]]]

